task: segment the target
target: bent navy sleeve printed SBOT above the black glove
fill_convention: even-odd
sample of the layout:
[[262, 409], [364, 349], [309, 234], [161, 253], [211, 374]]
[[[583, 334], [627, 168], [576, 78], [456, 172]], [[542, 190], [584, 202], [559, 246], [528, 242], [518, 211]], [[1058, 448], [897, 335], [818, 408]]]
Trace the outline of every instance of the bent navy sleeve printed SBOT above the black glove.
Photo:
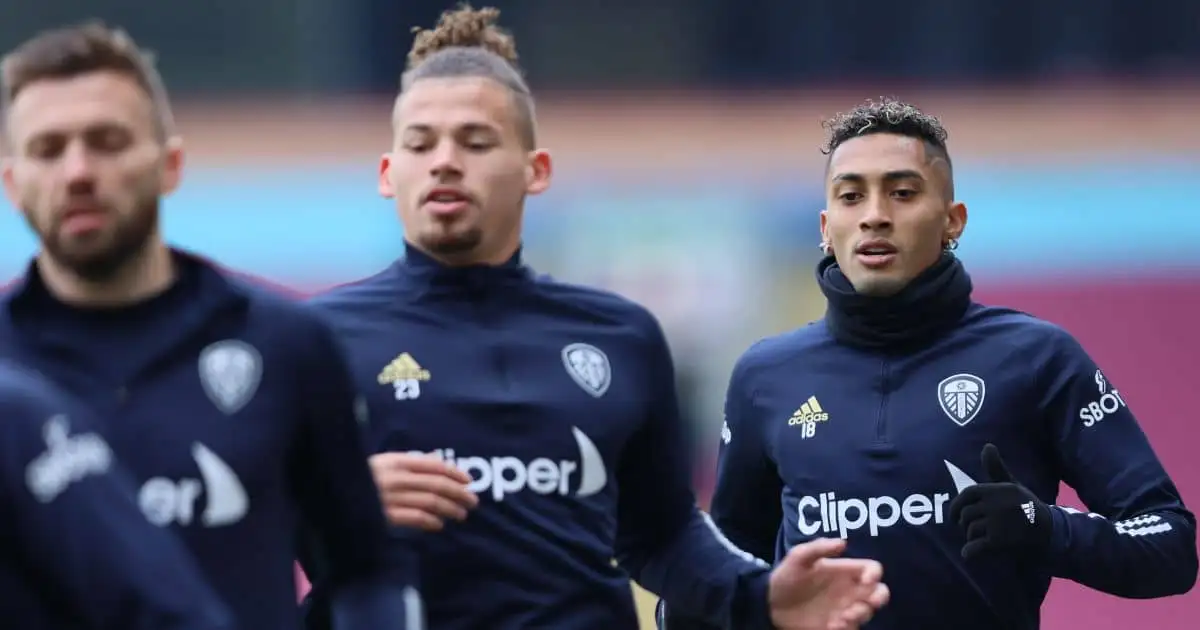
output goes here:
[[1121, 391], [1056, 332], [1039, 361], [1042, 410], [1063, 480], [1092, 514], [1051, 509], [1054, 575], [1122, 598], [1186, 593], [1196, 580], [1195, 517]]

